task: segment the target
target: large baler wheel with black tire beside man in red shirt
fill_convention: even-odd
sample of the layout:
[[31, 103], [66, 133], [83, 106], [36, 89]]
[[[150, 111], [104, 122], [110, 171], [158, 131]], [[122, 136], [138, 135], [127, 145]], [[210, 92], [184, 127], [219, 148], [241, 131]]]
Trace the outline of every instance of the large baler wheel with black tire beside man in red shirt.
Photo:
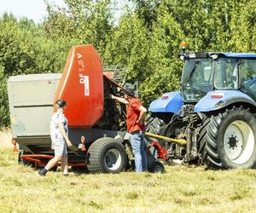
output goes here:
[[125, 170], [127, 154], [125, 147], [110, 137], [94, 141], [87, 153], [87, 168], [92, 173], [119, 173]]

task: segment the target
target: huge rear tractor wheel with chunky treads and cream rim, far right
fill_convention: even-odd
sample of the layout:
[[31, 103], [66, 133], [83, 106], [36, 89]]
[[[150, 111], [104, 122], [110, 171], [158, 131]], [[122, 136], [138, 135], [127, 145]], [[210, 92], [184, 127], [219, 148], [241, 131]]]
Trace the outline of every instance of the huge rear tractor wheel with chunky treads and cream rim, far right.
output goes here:
[[199, 140], [203, 161], [216, 169], [251, 169], [256, 164], [256, 118], [243, 107], [212, 116]]

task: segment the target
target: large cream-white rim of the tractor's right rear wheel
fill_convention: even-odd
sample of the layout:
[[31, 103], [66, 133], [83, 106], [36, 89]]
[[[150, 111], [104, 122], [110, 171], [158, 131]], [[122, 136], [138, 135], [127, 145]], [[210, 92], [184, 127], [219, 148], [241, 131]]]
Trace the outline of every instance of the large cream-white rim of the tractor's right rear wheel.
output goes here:
[[244, 164], [251, 158], [254, 135], [251, 127], [241, 120], [232, 122], [224, 133], [224, 152], [234, 164]]

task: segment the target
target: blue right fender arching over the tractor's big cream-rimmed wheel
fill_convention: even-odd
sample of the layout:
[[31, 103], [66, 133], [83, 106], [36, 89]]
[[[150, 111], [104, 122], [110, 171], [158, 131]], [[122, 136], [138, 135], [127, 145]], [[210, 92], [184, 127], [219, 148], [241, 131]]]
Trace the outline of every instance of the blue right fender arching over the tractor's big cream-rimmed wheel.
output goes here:
[[194, 112], [210, 112], [231, 104], [244, 102], [256, 107], [253, 99], [239, 90], [210, 91], [194, 107]]

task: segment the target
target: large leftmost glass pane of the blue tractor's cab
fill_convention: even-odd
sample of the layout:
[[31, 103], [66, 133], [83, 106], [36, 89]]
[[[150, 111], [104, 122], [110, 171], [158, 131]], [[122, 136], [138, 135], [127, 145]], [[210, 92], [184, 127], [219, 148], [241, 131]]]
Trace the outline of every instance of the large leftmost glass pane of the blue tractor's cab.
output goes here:
[[182, 76], [182, 95], [185, 102], [197, 102], [212, 90], [212, 60], [185, 60]]

